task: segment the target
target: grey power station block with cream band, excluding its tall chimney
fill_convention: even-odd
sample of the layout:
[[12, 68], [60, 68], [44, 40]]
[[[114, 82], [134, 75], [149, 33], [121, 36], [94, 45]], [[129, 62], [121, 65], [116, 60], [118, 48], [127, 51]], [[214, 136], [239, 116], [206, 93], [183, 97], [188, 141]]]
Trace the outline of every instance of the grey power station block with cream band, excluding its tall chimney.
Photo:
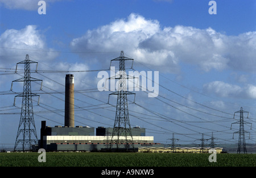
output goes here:
[[[113, 130], [113, 128], [104, 127], [97, 129]], [[98, 130], [98, 134], [100, 133]], [[163, 144], [154, 143], [154, 136], [141, 136], [145, 134], [144, 128], [135, 127], [132, 129], [132, 134], [137, 135], [133, 136], [132, 144], [135, 149], [152, 146], [163, 147]], [[42, 121], [40, 138], [40, 147], [47, 151], [100, 151], [109, 148], [112, 136], [94, 135], [94, 127], [49, 127], [46, 126], [46, 121]], [[119, 139], [125, 139], [125, 136], [120, 136]], [[127, 136], [127, 139], [131, 139], [131, 136]], [[128, 145], [128, 148], [132, 148], [131, 144]]]

